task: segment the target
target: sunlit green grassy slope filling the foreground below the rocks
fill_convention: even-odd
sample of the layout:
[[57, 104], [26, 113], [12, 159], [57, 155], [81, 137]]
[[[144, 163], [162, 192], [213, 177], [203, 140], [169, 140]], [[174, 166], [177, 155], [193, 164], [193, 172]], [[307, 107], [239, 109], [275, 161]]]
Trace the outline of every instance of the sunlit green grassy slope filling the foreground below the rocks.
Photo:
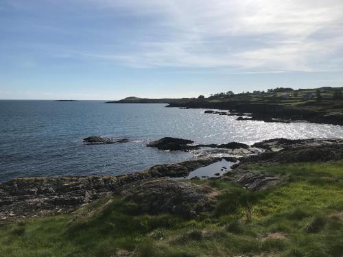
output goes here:
[[0, 256], [342, 256], [343, 160], [252, 168], [282, 174], [283, 184], [249, 193], [198, 182], [222, 191], [216, 210], [198, 219], [101, 199], [71, 215], [1, 225]]

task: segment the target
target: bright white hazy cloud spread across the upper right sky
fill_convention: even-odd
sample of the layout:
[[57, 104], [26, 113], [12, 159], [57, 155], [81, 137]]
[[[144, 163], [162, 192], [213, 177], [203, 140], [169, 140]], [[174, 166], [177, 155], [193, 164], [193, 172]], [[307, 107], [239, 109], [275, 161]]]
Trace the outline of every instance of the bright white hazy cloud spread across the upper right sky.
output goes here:
[[[88, 0], [128, 16], [153, 16], [126, 53], [91, 53], [128, 66], [342, 70], [341, 0]], [[134, 33], [134, 31], [132, 32]]]

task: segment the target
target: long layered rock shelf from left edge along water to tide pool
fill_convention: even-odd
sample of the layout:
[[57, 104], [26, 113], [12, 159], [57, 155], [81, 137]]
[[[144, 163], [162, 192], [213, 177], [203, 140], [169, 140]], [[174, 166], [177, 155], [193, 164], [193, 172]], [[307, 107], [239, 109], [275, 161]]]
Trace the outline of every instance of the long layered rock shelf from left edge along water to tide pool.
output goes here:
[[218, 160], [222, 158], [156, 165], [142, 172], [118, 176], [10, 180], [0, 184], [0, 222], [72, 212], [89, 201], [110, 195], [126, 184], [163, 177], [184, 177]]

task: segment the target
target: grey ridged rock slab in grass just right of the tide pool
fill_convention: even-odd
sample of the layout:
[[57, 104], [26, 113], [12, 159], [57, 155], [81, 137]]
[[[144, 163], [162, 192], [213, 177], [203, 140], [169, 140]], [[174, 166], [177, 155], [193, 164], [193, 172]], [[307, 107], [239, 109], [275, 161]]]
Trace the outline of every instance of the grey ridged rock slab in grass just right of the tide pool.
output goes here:
[[268, 175], [259, 171], [245, 169], [233, 169], [226, 173], [222, 180], [230, 180], [241, 184], [250, 191], [261, 191], [272, 186], [277, 186], [281, 182], [279, 175]]

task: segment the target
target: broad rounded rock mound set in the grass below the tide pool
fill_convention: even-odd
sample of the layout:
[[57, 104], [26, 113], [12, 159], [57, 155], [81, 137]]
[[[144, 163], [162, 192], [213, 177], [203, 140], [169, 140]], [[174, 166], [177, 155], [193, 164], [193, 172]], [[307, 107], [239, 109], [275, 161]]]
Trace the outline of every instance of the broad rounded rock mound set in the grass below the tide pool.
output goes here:
[[213, 210], [217, 195], [209, 186], [167, 179], [127, 184], [118, 188], [117, 193], [137, 202], [143, 212], [171, 212], [186, 217]]

